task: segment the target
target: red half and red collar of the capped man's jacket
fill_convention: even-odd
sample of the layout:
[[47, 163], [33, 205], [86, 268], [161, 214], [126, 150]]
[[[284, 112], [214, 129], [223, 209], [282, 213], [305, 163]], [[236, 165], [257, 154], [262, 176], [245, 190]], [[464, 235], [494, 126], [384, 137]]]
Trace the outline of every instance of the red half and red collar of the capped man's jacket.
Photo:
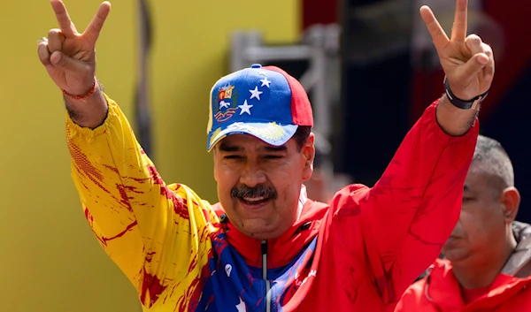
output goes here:
[[[318, 235], [304, 275], [296, 272], [296, 286], [279, 299], [283, 311], [393, 311], [440, 254], [458, 221], [479, 125], [450, 137], [435, 121], [435, 107], [412, 127], [373, 188], [345, 186], [329, 206], [308, 202], [291, 231], [268, 242], [272, 269], [289, 263]], [[294, 234], [308, 221], [308, 231]], [[232, 227], [227, 238], [250, 265], [261, 265], [258, 240]]]

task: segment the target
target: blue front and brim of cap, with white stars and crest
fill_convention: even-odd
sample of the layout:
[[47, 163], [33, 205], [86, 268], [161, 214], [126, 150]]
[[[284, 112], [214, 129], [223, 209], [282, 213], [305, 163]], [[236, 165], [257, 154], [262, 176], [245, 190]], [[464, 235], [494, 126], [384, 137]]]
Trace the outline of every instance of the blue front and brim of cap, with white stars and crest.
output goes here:
[[[212, 88], [211, 96], [212, 127], [208, 133], [207, 144], [209, 150], [212, 148], [210, 142], [219, 141], [212, 140], [212, 137], [219, 138], [219, 133], [228, 135], [232, 131], [230, 129], [241, 131], [241, 126], [230, 127], [234, 124], [252, 124], [259, 127], [258, 124], [274, 123], [281, 125], [281, 128], [293, 125], [291, 88], [288, 80], [280, 72], [264, 69], [261, 65], [252, 65], [251, 68], [221, 78]], [[284, 133], [291, 133], [291, 128], [286, 128]], [[264, 140], [259, 135], [255, 136]], [[285, 141], [281, 144], [284, 143]]]

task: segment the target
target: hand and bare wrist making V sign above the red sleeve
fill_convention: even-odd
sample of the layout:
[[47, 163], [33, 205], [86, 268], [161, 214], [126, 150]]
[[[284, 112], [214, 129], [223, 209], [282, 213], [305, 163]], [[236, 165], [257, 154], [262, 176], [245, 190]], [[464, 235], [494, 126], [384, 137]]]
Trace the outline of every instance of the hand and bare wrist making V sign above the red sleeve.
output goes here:
[[[420, 8], [443, 66], [450, 90], [462, 101], [470, 101], [485, 94], [494, 77], [494, 57], [488, 44], [475, 34], [466, 36], [467, 0], [457, 0], [454, 24], [450, 38], [444, 33], [433, 11], [427, 6]], [[466, 133], [477, 114], [474, 110], [460, 110], [443, 98], [437, 110], [437, 121], [446, 133]]]

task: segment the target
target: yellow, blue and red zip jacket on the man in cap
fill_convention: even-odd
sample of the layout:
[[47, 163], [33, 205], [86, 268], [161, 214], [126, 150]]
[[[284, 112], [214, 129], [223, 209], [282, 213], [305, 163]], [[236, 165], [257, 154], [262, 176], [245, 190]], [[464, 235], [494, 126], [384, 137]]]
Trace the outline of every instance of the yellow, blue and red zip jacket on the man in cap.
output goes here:
[[94, 130], [66, 120], [72, 176], [92, 231], [144, 311], [392, 311], [458, 220], [478, 134], [477, 123], [461, 137], [443, 133], [435, 102], [375, 186], [345, 186], [330, 205], [302, 194], [291, 229], [260, 241], [221, 217], [219, 204], [165, 184], [107, 100]]

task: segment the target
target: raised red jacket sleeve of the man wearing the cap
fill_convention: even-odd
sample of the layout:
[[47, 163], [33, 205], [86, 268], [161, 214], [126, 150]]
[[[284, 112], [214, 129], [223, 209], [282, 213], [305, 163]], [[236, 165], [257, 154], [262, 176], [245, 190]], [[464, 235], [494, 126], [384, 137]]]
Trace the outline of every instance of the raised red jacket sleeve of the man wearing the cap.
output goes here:
[[336, 216], [357, 215], [341, 224], [360, 228], [361, 243], [345, 241], [363, 245], [349, 247], [366, 255], [366, 269], [386, 303], [399, 300], [434, 262], [458, 221], [479, 125], [476, 120], [460, 137], [444, 133], [435, 119], [437, 103], [407, 133], [373, 188], [347, 186], [333, 200]]

